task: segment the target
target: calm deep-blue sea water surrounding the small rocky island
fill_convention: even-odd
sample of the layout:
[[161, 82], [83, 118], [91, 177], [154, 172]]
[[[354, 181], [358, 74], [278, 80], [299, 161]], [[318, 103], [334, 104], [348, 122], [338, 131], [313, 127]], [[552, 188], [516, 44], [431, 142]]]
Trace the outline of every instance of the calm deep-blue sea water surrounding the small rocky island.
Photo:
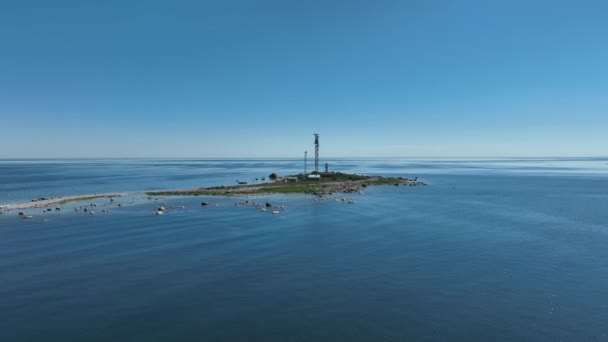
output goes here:
[[[96, 200], [95, 216], [0, 214], [0, 340], [608, 340], [607, 158], [328, 162], [429, 186], [370, 187], [356, 204], [170, 197], [154, 216], [158, 202], [120, 198], [109, 213]], [[2, 160], [0, 205], [301, 168]]]

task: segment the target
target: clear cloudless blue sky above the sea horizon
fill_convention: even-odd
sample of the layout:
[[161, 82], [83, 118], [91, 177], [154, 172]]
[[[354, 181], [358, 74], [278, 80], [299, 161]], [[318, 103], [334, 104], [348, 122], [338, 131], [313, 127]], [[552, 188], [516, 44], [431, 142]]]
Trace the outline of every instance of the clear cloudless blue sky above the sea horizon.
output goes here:
[[608, 155], [607, 1], [0, 0], [0, 158]]

